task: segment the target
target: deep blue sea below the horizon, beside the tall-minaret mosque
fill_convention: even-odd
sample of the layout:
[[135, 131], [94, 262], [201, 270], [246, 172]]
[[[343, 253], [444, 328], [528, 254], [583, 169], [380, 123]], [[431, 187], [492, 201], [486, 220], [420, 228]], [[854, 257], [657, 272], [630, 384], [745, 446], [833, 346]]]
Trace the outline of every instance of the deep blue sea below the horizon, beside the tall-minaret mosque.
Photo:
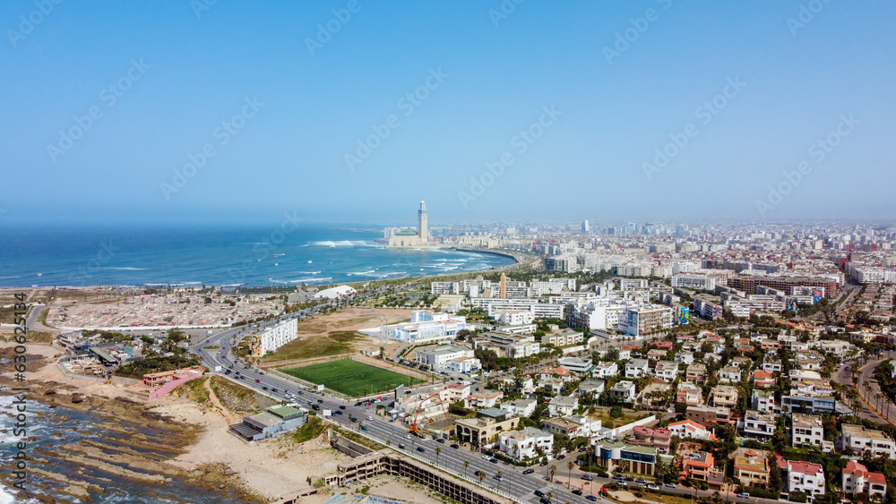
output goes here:
[[296, 286], [477, 271], [512, 259], [386, 249], [379, 228], [0, 227], [0, 286]]

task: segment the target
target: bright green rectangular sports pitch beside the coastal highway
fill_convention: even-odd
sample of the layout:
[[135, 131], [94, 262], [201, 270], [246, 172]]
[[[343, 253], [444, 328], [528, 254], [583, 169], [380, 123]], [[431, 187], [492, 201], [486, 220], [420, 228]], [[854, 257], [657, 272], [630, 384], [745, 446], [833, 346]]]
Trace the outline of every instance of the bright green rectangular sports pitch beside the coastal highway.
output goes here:
[[422, 381], [349, 359], [280, 371], [354, 397], [384, 392], [399, 385], [414, 385]]

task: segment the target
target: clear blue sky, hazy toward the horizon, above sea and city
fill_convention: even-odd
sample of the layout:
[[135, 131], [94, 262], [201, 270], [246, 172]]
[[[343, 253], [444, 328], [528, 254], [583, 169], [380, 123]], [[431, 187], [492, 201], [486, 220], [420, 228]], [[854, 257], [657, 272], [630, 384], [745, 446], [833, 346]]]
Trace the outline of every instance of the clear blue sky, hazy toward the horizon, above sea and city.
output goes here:
[[0, 219], [892, 216], [896, 4], [203, 2], [0, 4]]

